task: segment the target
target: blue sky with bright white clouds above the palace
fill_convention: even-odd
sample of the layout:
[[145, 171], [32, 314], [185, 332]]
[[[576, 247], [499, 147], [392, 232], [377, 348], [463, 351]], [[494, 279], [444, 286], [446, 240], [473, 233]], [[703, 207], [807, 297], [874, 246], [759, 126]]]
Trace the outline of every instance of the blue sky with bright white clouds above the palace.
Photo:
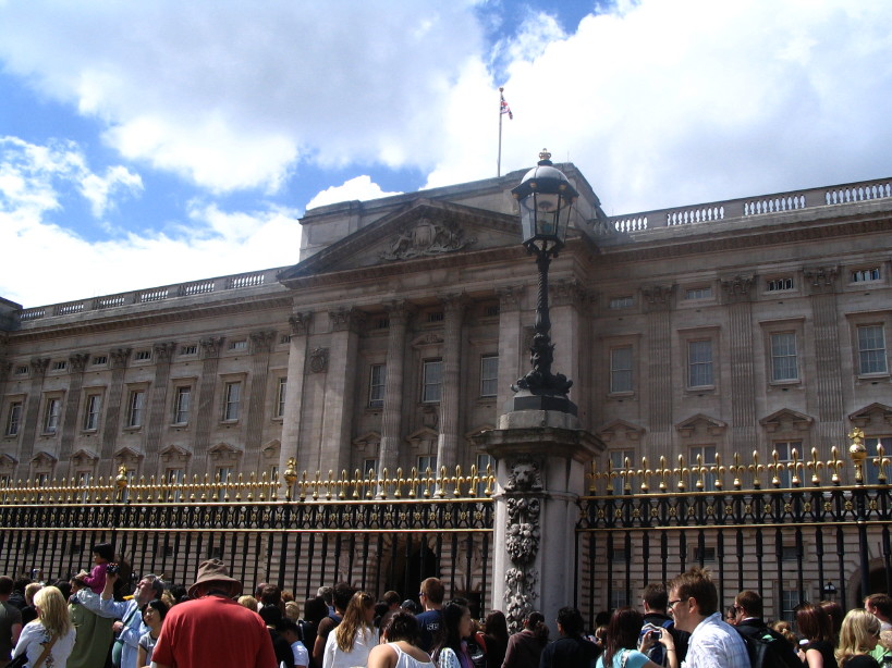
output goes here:
[[610, 215], [892, 176], [888, 0], [0, 0], [0, 297], [294, 264], [547, 147]]

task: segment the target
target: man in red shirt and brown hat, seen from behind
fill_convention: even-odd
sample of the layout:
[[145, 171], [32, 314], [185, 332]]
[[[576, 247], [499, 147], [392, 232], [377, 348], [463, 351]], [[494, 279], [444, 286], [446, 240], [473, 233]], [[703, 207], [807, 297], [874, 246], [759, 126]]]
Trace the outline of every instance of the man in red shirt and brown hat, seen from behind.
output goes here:
[[158, 668], [276, 668], [267, 627], [233, 601], [242, 583], [220, 559], [198, 567], [193, 601], [170, 609], [151, 656]]

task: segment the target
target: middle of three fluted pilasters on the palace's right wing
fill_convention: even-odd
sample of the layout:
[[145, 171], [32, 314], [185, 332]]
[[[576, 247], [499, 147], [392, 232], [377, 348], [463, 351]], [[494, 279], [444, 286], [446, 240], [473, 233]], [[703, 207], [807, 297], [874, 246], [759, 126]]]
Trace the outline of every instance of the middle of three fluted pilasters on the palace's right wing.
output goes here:
[[[731, 449], [752, 453], [756, 435], [756, 372], [753, 367], [753, 286], [755, 276], [722, 280], [729, 311], [731, 349]], [[716, 351], [718, 358], [718, 350]]]

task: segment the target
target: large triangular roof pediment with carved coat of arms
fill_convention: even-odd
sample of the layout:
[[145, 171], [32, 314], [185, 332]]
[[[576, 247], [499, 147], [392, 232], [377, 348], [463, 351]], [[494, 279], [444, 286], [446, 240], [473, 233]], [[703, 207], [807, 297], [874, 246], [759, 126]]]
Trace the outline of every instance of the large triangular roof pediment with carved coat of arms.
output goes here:
[[282, 271], [293, 286], [310, 276], [375, 270], [376, 275], [426, 271], [430, 262], [511, 249], [524, 255], [520, 220], [485, 209], [418, 198]]

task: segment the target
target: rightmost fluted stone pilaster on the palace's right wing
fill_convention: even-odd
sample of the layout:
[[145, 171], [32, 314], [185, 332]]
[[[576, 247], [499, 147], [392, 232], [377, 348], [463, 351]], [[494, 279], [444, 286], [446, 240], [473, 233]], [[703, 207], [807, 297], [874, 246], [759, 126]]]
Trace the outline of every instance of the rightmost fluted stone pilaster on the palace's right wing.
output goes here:
[[839, 268], [816, 267], [804, 272], [806, 285], [811, 295], [811, 317], [815, 323], [815, 369], [818, 404], [818, 445], [829, 451], [834, 445], [845, 442], [845, 401], [842, 386], [842, 363], [840, 360], [840, 318], [836, 308]]

